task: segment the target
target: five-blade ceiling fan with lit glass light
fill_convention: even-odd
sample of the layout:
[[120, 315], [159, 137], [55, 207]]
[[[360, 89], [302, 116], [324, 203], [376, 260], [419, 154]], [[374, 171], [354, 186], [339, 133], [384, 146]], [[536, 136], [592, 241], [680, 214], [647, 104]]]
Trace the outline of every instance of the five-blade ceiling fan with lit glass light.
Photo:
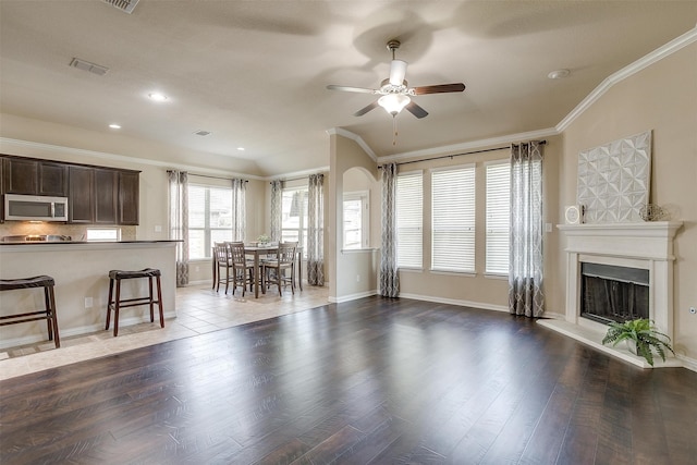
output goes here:
[[445, 93], [461, 93], [465, 89], [463, 83], [453, 84], [437, 84], [432, 86], [408, 87], [408, 83], [404, 79], [406, 75], [406, 61], [396, 60], [394, 52], [400, 48], [399, 40], [388, 41], [388, 50], [392, 52], [392, 62], [390, 63], [390, 77], [380, 83], [380, 88], [369, 89], [365, 87], [348, 87], [328, 85], [330, 90], [342, 90], [350, 93], [360, 94], [374, 94], [381, 97], [353, 113], [354, 117], [362, 117], [368, 111], [377, 107], [382, 107], [392, 117], [396, 117], [403, 109], [406, 109], [409, 113], [416, 118], [424, 118], [428, 115], [428, 111], [416, 105], [412, 97], [417, 95], [427, 94], [445, 94]]

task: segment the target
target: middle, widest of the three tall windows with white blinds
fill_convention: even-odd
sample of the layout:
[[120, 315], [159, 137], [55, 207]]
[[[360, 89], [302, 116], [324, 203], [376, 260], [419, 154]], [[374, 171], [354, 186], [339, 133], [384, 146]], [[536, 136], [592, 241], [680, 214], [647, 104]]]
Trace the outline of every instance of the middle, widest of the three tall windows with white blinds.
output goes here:
[[475, 167], [431, 173], [431, 269], [475, 271]]

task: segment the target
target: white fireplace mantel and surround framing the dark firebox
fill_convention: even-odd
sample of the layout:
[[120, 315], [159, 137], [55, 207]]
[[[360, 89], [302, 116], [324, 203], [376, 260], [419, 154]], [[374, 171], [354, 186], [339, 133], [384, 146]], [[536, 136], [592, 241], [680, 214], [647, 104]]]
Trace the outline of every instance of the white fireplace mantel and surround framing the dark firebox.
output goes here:
[[673, 240], [682, 225], [682, 221], [559, 224], [566, 237], [566, 323], [561, 332], [606, 350], [599, 344], [598, 334], [603, 334], [607, 327], [582, 318], [579, 311], [580, 264], [595, 262], [649, 270], [649, 318], [672, 339]]

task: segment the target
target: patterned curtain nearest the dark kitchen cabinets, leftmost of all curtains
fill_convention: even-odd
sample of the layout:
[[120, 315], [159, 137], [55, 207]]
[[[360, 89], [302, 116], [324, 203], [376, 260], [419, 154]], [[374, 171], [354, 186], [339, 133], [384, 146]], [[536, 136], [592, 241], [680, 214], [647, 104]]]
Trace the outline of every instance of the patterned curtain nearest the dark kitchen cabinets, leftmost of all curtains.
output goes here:
[[188, 284], [188, 173], [168, 171], [170, 185], [170, 238], [176, 244], [176, 286]]

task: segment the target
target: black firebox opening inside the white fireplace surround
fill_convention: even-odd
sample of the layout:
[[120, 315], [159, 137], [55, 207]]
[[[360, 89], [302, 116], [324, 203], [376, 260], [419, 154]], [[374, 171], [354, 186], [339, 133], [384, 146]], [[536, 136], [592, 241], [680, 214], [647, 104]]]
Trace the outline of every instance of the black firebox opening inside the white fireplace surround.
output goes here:
[[580, 316], [624, 322], [649, 318], [649, 270], [580, 264]]

